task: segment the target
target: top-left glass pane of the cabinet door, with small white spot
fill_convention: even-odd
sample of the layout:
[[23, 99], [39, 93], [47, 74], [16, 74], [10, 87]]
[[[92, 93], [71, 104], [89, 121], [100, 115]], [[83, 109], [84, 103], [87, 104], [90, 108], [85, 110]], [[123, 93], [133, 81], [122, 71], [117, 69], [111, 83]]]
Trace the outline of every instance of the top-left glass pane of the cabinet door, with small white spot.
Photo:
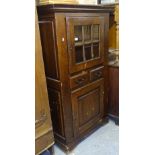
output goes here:
[[74, 41], [82, 42], [82, 26], [74, 26]]

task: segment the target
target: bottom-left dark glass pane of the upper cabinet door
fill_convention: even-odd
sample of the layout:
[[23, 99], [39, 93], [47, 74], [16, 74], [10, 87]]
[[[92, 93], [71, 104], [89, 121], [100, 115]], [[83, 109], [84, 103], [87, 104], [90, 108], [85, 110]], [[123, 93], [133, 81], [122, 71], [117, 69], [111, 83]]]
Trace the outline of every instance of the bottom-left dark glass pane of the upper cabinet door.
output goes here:
[[75, 47], [75, 62], [79, 63], [83, 61], [83, 46]]

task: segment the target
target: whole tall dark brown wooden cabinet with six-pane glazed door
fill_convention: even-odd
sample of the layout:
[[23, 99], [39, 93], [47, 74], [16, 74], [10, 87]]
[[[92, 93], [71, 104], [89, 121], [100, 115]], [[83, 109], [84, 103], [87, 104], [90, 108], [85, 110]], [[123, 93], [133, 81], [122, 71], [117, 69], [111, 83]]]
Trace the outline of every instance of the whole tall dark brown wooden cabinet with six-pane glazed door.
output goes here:
[[56, 142], [65, 150], [107, 122], [109, 8], [38, 6]]

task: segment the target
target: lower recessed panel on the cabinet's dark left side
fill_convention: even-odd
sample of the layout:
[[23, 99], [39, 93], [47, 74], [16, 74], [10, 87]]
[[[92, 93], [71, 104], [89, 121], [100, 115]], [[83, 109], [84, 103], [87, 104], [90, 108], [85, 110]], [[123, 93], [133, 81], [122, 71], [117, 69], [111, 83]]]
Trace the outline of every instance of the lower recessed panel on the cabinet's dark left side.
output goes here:
[[54, 133], [65, 139], [65, 132], [64, 132], [64, 121], [63, 121], [63, 111], [61, 105], [61, 95], [60, 92], [57, 90], [53, 90], [48, 88], [48, 95], [49, 95], [49, 104], [52, 116], [52, 123], [53, 123], [53, 130]]

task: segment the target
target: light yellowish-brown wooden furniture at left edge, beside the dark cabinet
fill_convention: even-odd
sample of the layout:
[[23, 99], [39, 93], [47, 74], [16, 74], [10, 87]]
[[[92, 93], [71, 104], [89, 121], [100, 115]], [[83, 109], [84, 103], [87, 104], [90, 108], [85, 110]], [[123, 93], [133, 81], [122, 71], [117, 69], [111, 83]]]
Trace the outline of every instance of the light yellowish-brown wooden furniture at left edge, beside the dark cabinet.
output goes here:
[[[41, 51], [38, 19], [35, 21], [35, 154], [54, 144], [50, 108]], [[52, 149], [50, 149], [52, 152]]]

